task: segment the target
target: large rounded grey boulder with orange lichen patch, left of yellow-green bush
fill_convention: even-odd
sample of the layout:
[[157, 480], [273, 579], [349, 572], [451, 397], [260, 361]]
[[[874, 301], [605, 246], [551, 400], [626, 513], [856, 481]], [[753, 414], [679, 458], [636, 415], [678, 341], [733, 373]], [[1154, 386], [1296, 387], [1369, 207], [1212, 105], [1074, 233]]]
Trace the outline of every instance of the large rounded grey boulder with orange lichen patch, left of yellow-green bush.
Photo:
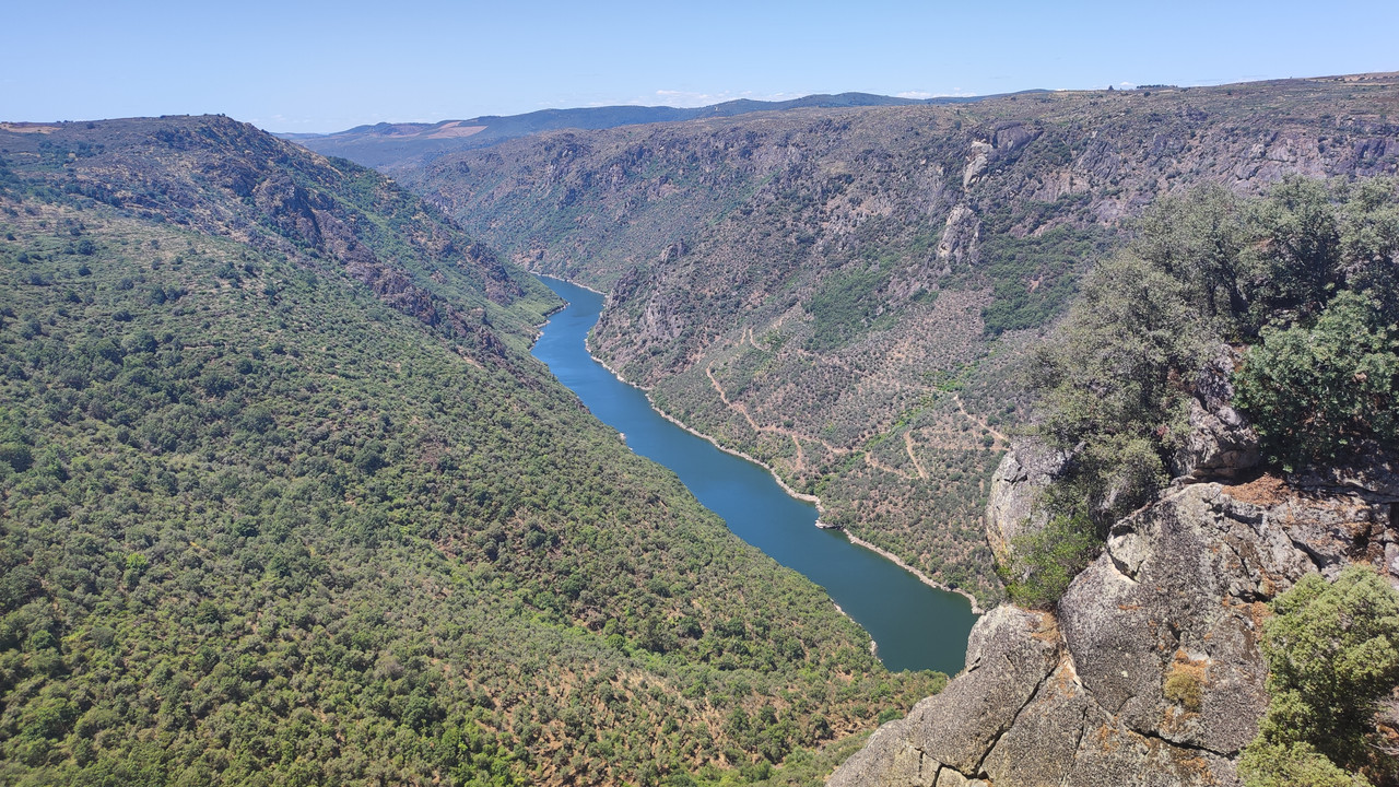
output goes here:
[[1263, 510], [1186, 487], [1112, 528], [1060, 602], [1065, 644], [1119, 725], [1231, 756], [1267, 704], [1262, 602], [1309, 570]]

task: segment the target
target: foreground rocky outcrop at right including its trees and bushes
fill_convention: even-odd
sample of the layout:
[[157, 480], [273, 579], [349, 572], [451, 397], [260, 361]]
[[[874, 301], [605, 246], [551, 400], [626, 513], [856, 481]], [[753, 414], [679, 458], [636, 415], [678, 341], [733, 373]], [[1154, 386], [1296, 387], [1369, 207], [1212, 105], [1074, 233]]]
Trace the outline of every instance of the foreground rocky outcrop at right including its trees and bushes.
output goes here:
[[830, 784], [1399, 784], [1396, 259], [1396, 178], [1158, 200], [1037, 353], [1020, 606]]

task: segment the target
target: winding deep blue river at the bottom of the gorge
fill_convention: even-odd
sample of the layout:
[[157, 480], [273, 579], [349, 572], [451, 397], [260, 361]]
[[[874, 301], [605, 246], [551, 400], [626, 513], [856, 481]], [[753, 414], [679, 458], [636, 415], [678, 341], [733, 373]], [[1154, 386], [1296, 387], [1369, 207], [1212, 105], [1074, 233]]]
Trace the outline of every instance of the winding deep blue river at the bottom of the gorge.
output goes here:
[[824, 587], [870, 633], [887, 668], [961, 669], [975, 622], [964, 597], [925, 585], [839, 531], [817, 528], [816, 507], [788, 494], [767, 469], [660, 417], [641, 389], [617, 379], [585, 347], [603, 297], [557, 279], [541, 281], [569, 305], [550, 318], [534, 357], [621, 431], [632, 451], [674, 471], [739, 538]]

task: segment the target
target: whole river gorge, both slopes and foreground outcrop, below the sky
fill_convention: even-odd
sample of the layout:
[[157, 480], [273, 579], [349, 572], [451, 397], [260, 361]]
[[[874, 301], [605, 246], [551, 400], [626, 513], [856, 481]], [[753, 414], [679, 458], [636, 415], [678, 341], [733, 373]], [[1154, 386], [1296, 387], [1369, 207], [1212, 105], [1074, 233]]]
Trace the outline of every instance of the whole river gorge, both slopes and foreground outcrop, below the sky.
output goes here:
[[0, 786], [1399, 784], [1399, 74], [652, 109], [0, 125]]

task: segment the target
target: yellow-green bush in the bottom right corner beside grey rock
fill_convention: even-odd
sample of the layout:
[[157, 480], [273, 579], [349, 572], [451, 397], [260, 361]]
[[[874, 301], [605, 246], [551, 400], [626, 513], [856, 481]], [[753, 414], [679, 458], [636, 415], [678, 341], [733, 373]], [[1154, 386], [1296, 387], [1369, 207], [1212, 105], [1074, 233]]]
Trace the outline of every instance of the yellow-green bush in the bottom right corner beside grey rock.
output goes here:
[[1263, 623], [1267, 713], [1244, 751], [1247, 787], [1367, 787], [1399, 781], [1399, 758], [1374, 725], [1399, 683], [1399, 592], [1372, 570], [1328, 583], [1308, 574]]

